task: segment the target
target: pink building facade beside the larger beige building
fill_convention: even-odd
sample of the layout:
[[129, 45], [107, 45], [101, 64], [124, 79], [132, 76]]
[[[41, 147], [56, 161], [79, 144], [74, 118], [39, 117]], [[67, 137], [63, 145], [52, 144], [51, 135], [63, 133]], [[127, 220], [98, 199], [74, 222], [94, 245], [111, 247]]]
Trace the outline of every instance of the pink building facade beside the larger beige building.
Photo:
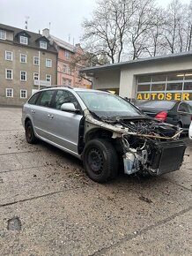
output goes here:
[[57, 58], [57, 85], [70, 87], [91, 87], [89, 79], [82, 78], [79, 70], [84, 64], [75, 60], [84, 54], [80, 44], [75, 46], [49, 34], [48, 28], [43, 29], [42, 34], [48, 38], [58, 52]]

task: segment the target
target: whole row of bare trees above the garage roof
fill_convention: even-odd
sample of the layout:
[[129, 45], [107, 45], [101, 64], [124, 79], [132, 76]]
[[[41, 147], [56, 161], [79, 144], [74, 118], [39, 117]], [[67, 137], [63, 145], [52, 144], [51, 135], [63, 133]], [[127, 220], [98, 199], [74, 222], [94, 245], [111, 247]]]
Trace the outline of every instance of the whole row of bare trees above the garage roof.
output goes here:
[[82, 41], [88, 64], [105, 64], [192, 49], [192, 0], [99, 0], [85, 20]]

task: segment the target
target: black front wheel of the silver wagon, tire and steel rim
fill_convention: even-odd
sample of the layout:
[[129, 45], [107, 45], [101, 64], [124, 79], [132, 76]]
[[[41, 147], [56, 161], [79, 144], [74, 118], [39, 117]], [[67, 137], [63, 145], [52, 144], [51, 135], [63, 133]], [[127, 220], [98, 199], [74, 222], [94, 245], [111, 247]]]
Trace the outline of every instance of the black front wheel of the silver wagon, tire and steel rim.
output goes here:
[[87, 176], [95, 182], [104, 183], [117, 176], [118, 157], [105, 139], [92, 139], [85, 145], [83, 163]]

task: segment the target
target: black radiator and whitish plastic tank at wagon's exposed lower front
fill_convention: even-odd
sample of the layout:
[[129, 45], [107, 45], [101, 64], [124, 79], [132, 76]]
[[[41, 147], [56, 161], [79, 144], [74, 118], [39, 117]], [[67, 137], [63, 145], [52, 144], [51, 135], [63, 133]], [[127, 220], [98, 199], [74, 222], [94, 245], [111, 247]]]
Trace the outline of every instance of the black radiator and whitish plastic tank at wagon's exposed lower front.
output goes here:
[[186, 145], [183, 141], [154, 143], [151, 155], [147, 150], [130, 150], [123, 157], [124, 172], [133, 174], [148, 172], [159, 176], [180, 169]]

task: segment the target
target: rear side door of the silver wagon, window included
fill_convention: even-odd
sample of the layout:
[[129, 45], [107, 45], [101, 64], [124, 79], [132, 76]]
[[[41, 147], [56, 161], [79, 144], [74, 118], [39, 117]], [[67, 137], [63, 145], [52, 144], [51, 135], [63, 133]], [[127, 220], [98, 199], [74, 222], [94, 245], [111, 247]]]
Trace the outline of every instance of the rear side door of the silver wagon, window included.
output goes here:
[[55, 92], [55, 90], [42, 91], [36, 105], [32, 108], [34, 130], [43, 139], [50, 139], [49, 129], [53, 118], [51, 102]]

